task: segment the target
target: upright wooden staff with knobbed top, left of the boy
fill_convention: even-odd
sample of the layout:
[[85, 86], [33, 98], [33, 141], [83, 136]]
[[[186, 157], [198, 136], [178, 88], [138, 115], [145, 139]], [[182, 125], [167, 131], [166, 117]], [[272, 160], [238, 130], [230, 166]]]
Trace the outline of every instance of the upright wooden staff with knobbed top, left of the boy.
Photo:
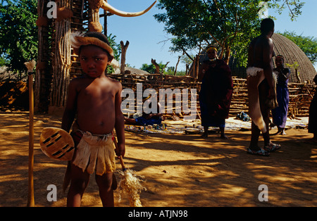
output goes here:
[[28, 177], [28, 194], [27, 206], [34, 207], [34, 182], [33, 182], [33, 164], [34, 164], [34, 92], [33, 92], [33, 68], [35, 61], [25, 62], [27, 67], [27, 80], [29, 84], [29, 177]]

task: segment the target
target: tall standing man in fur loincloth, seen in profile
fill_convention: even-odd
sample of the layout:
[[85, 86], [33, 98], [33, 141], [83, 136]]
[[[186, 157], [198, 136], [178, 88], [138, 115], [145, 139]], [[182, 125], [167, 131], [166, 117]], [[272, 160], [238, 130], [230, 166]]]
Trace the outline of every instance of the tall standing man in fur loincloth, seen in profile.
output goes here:
[[[269, 156], [270, 152], [280, 149], [270, 139], [268, 124], [270, 110], [277, 106], [273, 77], [273, 41], [274, 21], [265, 18], [261, 22], [261, 35], [249, 45], [247, 84], [249, 97], [249, 115], [251, 122], [251, 142], [247, 153]], [[264, 148], [258, 146], [260, 133], [263, 134]]]

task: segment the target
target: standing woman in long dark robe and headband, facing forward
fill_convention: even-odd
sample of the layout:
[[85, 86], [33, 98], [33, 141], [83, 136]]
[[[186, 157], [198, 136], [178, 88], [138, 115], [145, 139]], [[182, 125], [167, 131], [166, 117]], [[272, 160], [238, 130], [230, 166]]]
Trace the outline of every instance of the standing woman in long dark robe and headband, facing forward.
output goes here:
[[225, 119], [229, 117], [233, 91], [231, 70], [225, 61], [218, 59], [215, 46], [207, 46], [206, 53], [209, 60], [202, 63], [198, 74], [198, 80], [201, 81], [201, 125], [204, 127], [201, 137], [208, 137], [209, 127], [219, 127], [220, 138], [228, 139], [225, 136]]

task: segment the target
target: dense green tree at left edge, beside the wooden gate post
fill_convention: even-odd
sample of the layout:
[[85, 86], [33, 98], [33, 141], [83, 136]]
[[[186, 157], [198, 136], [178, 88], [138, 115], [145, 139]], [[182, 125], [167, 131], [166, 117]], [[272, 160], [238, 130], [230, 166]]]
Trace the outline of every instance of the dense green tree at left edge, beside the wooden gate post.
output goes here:
[[25, 61], [37, 58], [37, 0], [1, 0], [0, 55], [8, 68], [24, 73]]

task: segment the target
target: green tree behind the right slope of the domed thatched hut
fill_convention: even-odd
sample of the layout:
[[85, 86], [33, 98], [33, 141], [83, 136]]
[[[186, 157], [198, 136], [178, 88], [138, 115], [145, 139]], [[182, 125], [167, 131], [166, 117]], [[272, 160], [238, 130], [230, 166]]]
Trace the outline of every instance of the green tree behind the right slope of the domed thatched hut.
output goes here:
[[295, 32], [285, 31], [284, 33], [280, 33], [283, 36], [290, 39], [292, 42], [297, 44], [302, 51], [309, 58], [311, 63], [315, 64], [317, 62], [317, 38], [316, 37], [304, 37], [301, 35], [297, 35]]

